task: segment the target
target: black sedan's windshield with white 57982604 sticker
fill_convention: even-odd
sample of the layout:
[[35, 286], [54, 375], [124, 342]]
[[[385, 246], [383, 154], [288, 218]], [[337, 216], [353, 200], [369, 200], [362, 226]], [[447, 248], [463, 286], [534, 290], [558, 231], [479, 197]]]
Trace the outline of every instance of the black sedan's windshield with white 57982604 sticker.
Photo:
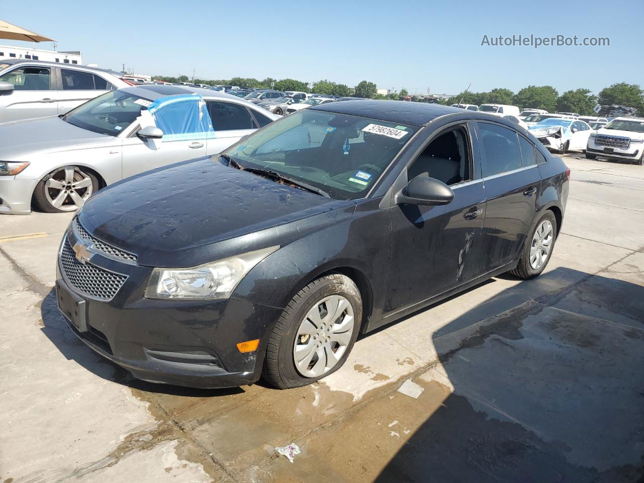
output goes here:
[[332, 198], [353, 200], [365, 196], [417, 129], [304, 109], [269, 124], [224, 154], [244, 168], [275, 171]]

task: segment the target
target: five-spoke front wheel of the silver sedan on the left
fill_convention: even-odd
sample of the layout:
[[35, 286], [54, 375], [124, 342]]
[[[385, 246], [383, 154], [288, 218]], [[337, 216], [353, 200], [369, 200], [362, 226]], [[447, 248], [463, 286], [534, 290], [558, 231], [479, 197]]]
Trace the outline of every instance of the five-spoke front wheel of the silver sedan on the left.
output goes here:
[[98, 189], [99, 180], [90, 171], [63, 166], [40, 180], [33, 191], [33, 200], [45, 213], [76, 211]]

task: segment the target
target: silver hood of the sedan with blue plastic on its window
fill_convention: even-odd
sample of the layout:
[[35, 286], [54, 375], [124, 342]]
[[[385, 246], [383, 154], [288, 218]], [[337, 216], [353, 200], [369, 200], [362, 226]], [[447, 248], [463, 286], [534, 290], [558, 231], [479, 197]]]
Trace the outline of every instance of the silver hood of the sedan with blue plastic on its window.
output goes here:
[[[104, 144], [113, 136], [93, 133], [58, 116], [0, 123], [0, 159], [13, 161], [35, 152], [66, 151], [70, 146]], [[30, 159], [31, 161], [32, 159]]]

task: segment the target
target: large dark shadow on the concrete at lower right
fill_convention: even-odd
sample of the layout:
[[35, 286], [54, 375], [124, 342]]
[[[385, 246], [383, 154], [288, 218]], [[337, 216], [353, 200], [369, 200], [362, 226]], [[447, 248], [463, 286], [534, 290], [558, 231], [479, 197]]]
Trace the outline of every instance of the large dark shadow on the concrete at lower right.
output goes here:
[[435, 331], [439, 364], [414, 379], [415, 424], [376, 482], [644, 482], [644, 287], [542, 277], [517, 287], [579, 283], [471, 327], [501, 292]]

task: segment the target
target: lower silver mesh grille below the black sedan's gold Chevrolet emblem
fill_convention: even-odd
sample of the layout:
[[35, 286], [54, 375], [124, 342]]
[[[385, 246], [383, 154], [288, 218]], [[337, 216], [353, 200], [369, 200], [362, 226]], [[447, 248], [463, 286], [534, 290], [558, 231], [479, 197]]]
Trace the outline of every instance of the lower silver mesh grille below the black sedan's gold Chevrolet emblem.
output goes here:
[[128, 278], [125, 275], [109, 272], [91, 263], [81, 263], [65, 237], [61, 249], [62, 272], [70, 285], [90, 297], [111, 300]]

